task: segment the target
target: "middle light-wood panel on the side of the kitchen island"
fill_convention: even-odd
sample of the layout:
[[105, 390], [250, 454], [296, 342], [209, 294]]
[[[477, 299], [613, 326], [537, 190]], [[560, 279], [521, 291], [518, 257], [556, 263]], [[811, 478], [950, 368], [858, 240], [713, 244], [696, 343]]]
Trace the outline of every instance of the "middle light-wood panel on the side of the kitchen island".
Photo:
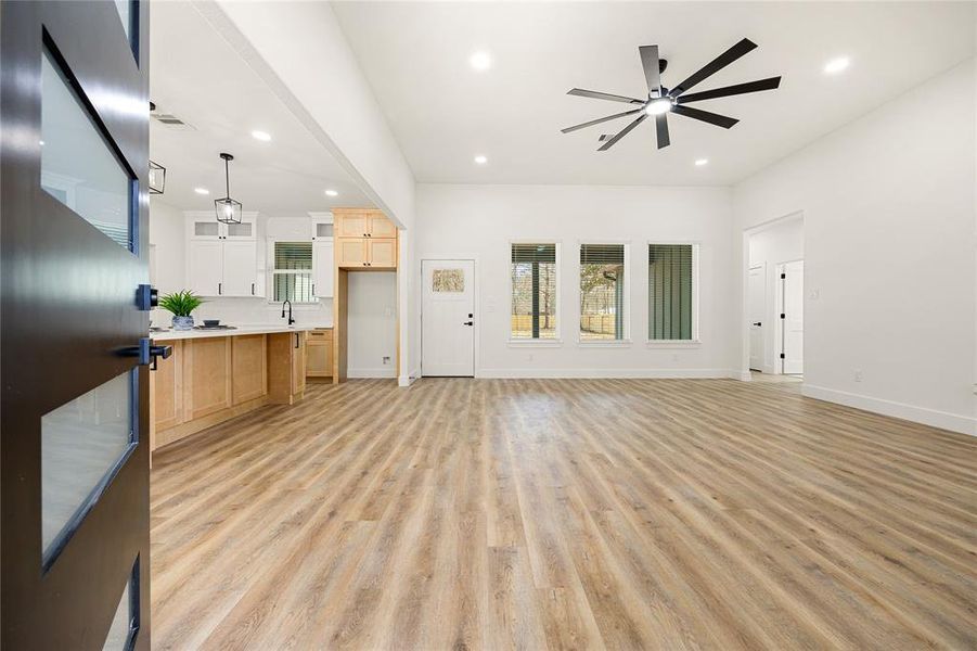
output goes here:
[[185, 420], [208, 416], [231, 407], [231, 339], [183, 341], [187, 384]]

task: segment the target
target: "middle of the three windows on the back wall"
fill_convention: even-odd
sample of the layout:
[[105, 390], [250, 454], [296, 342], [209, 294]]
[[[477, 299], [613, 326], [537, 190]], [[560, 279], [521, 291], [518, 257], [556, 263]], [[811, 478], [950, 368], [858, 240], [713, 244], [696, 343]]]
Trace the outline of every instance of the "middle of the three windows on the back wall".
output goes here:
[[580, 245], [580, 341], [626, 339], [625, 245]]

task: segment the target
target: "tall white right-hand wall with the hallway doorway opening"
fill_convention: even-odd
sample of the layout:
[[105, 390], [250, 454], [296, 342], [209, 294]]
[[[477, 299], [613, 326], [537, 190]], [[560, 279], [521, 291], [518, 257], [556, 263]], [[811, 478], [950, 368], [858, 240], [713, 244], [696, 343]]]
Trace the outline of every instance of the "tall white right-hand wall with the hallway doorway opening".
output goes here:
[[970, 61], [734, 188], [742, 369], [743, 230], [802, 212], [805, 394], [977, 433], [974, 91]]

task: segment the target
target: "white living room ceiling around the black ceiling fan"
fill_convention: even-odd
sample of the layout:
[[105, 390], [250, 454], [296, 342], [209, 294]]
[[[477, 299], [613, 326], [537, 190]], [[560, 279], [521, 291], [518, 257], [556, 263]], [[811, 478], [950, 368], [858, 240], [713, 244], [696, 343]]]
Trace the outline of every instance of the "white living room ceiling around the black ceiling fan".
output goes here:
[[[963, 2], [333, 7], [420, 182], [730, 184], [974, 54], [974, 5]], [[740, 118], [732, 129], [672, 115], [660, 152], [651, 120], [608, 152], [595, 151], [597, 136], [627, 122], [560, 133], [626, 110], [566, 95], [573, 87], [646, 94], [639, 46], [659, 46], [672, 86], [743, 37], [759, 48], [696, 90], [783, 81], [695, 104]], [[483, 49], [493, 64], [478, 73], [468, 58]], [[839, 55], [848, 71], [824, 75]], [[695, 167], [700, 157], [709, 164]]]

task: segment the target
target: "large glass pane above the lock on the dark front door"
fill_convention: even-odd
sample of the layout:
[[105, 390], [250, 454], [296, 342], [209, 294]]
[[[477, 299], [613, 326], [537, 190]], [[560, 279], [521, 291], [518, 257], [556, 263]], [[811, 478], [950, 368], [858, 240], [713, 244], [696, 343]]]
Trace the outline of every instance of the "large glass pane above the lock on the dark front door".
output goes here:
[[129, 174], [48, 52], [41, 61], [40, 145], [41, 188], [131, 251]]

